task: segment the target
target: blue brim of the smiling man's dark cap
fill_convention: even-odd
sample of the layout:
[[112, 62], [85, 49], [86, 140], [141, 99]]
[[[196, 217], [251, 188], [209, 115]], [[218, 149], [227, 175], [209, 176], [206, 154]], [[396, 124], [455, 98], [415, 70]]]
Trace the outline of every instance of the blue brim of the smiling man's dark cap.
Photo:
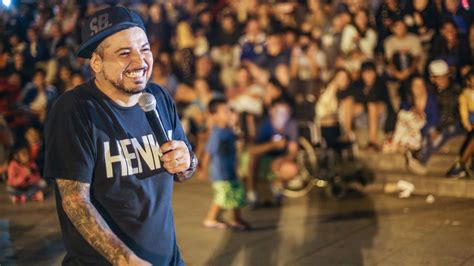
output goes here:
[[76, 55], [78, 57], [82, 58], [90, 58], [92, 56], [92, 53], [95, 51], [97, 46], [107, 37], [110, 35], [128, 29], [128, 28], [133, 28], [133, 27], [139, 27], [143, 29], [138, 23], [134, 22], [122, 22], [119, 24], [116, 24], [106, 30], [103, 30], [96, 35], [94, 35], [92, 38], [87, 40], [86, 42], [82, 43], [81, 46], [76, 51]]

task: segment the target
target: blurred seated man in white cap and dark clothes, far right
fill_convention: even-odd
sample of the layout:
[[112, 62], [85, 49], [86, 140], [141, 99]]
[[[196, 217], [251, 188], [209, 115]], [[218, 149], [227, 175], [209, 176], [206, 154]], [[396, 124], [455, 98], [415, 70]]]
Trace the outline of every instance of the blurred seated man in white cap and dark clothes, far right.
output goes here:
[[436, 125], [425, 125], [427, 134], [423, 137], [421, 150], [416, 156], [408, 157], [408, 169], [415, 174], [427, 173], [426, 164], [431, 155], [449, 139], [461, 135], [464, 130], [460, 123], [458, 98], [461, 87], [449, 76], [449, 67], [444, 60], [435, 60], [428, 67], [439, 109]]

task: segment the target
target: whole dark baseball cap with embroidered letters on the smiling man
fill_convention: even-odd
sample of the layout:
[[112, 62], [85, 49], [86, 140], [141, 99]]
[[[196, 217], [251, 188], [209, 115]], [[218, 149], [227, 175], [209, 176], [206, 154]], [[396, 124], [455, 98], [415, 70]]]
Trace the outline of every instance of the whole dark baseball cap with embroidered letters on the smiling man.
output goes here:
[[132, 27], [139, 27], [146, 32], [140, 16], [125, 7], [114, 6], [97, 11], [87, 19], [82, 28], [82, 44], [77, 50], [77, 56], [90, 58], [105, 38]]

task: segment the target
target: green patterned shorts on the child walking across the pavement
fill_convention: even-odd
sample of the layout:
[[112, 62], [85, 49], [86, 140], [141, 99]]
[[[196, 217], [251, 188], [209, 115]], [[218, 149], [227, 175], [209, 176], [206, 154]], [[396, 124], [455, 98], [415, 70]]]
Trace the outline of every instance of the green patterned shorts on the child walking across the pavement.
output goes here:
[[240, 180], [212, 182], [213, 203], [223, 209], [236, 209], [245, 205], [245, 188]]

